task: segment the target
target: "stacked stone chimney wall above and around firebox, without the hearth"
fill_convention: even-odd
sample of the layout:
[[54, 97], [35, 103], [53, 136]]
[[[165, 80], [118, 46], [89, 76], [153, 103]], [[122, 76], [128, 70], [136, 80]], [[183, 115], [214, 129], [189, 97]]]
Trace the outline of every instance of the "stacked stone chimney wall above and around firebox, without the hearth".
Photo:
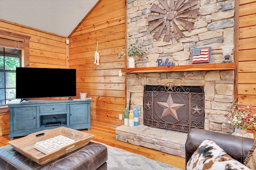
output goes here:
[[[157, 59], [169, 59], [169, 62], [176, 65], [188, 65], [191, 49], [201, 47], [212, 48], [210, 63], [222, 63], [222, 46], [234, 45], [234, 0], [198, 0], [198, 5], [194, 7], [199, 8], [198, 17], [190, 20], [195, 23], [194, 27], [191, 31], [186, 31], [178, 25], [184, 36], [178, 40], [172, 37], [169, 42], [162, 41], [164, 33], [158, 40], [154, 39], [153, 35], [158, 27], [147, 32], [150, 24], [147, 15], [151, 14], [150, 7], [153, 3], [159, 5], [158, 0], [127, 0], [128, 37], [137, 39], [140, 45], [148, 49], [145, 56], [137, 59], [136, 67], [155, 67]], [[233, 56], [230, 59], [233, 60]], [[227, 123], [224, 114], [234, 99], [233, 70], [127, 74], [127, 103], [129, 104], [131, 93], [131, 108], [138, 106], [140, 125], [143, 124], [144, 86], [165, 85], [167, 82], [173, 82], [176, 86], [203, 86], [204, 129], [232, 133], [232, 126]]]

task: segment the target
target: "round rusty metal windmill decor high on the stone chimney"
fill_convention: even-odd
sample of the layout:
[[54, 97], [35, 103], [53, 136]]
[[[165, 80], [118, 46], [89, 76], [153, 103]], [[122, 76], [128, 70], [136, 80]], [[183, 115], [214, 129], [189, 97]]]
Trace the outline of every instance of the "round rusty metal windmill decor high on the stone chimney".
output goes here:
[[[182, 25], [182, 27], [184, 27], [186, 30], [190, 31], [194, 26], [194, 22], [188, 21], [188, 18], [196, 18], [199, 10], [198, 8], [191, 9], [193, 6], [198, 4], [197, 0], [188, 0], [185, 3], [185, 0], [178, 0], [176, 5], [174, 5], [175, 0], [169, 0], [170, 6], [168, 5], [167, 1], [168, 0], [158, 0], [162, 6], [160, 6], [160, 4], [152, 4], [150, 10], [154, 13], [147, 16], [147, 21], [152, 21], [148, 26], [148, 32], [153, 31], [156, 27], [163, 23], [161, 27], [158, 28], [156, 33], [154, 33], [153, 37], [155, 39], [159, 39], [164, 28], [166, 27], [163, 39], [163, 41], [166, 42], [170, 41], [171, 32], [174, 32], [176, 39], [180, 39], [183, 36], [183, 33], [177, 26], [177, 23]], [[158, 15], [156, 15], [157, 13]]]

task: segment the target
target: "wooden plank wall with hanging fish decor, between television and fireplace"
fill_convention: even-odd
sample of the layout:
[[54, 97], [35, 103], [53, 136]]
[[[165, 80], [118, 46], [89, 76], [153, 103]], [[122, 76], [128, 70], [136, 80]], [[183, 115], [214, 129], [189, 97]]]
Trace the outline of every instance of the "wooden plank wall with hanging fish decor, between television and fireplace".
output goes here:
[[[116, 53], [125, 45], [125, 0], [99, 0], [69, 36], [70, 68], [76, 68], [77, 94], [86, 92], [91, 103], [91, 124], [123, 125], [125, 108], [125, 59]], [[100, 65], [94, 64], [98, 42]]]

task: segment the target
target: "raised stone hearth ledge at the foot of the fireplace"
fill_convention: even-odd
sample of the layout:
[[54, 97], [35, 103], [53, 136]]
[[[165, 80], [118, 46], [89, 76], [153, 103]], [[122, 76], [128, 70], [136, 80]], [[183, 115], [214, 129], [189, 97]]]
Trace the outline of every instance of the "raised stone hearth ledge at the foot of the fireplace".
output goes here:
[[144, 125], [116, 128], [116, 140], [185, 158], [187, 133]]

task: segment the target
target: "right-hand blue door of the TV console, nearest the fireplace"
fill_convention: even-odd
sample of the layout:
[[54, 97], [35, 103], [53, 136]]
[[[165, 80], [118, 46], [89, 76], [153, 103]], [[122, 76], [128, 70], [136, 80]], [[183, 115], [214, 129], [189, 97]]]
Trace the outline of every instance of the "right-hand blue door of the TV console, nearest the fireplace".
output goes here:
[[70, 125], [89, 124], [88, 104], [70, 104]]

